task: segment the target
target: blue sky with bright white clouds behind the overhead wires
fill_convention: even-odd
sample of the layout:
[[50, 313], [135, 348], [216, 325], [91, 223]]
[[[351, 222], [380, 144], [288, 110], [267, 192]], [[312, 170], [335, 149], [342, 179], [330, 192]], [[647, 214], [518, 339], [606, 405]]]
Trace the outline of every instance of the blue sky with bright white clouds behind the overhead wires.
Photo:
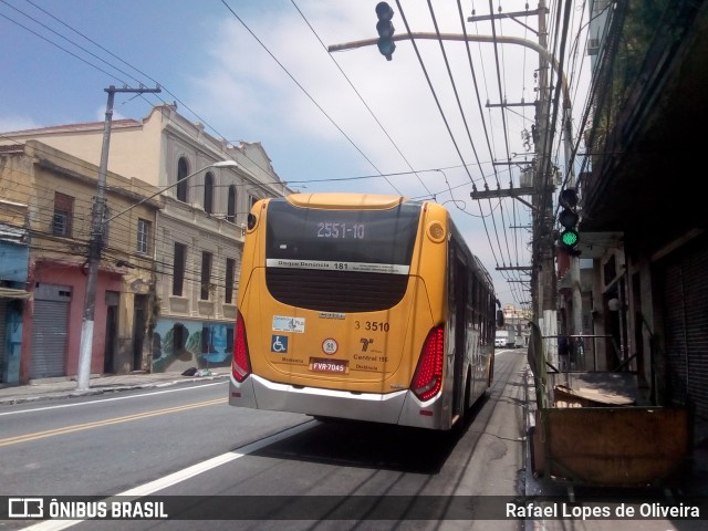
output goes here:
[[[565, 2], [546, 1], [549, 48], [564, 60], [577, 135], [590, 69], [582, 53], [587, 8], [571, 2], [571, 30], [563, 32]], [[116, 94], [113, 118], [142, 119], [153, 105], [176, 102], [217, 138], [260, 143], [292, 189], [442, 204], [500, 303], [529, 308], [530, 277], [509, 268], [531, 264], [530, 208], [470, 192], [520, 186], [533, 159], [539, 54], [480, 41], [538, 43], [538, 15], [497, 19], [492, 28], [490, 9], [516, 13], [527, 1], [394, 0], [396, 34], [467, 33], [469, 42], [397, 41], [392, 61], [375, 45], [329, 52], [378, 37], [376, 3], [0, 0], [0, 132], [102, 122], [108, 86], [159, 85], [159, 94]], [[468, 21], [472, 13], [487, 20]], [[553, 157], [565, 171], [560, 132]]]

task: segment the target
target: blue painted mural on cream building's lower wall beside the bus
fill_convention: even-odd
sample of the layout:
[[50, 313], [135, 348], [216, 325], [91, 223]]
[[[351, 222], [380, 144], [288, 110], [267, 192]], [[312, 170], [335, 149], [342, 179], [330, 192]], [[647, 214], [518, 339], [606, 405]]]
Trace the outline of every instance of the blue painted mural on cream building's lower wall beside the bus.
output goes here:
[[233, 325], [160, 319], [153, 332], [153, 372], [231, 365]]

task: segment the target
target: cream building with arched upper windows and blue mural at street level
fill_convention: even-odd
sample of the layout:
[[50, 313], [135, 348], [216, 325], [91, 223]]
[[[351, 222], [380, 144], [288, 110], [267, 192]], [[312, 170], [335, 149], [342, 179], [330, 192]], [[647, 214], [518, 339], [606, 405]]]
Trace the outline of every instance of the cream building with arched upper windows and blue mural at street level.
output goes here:
[[[104, 123], [71, 124], [10, 132], [3, 139], [41, 139], [97, 165], [103, 133]], [[152, 259], [153, 281], [135, 283], [144, 308], [133, 334], [139, 343], [135, 348], [147, 358], [142, 368], [230, 365], [246, 218], [258, 199], [292, 190], [259, 143], [218, 139], [181, 116], [176, 105], [155, 106], [142, 121], [113, 122], [108, 170], [154, 187], [164, 207], [149, 226], [137, 209], [113, 209], [118, 215], [113, 223], [150, 233], [143, 250]], [[132, 266], [125, 267], [133, 271]]]

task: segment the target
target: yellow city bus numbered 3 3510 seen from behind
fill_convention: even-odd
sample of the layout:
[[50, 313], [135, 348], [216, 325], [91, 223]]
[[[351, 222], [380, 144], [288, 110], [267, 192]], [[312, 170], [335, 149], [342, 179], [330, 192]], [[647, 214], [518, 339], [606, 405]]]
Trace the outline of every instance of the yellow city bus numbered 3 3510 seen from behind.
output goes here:
[[262, 199], [248, 218], [229, 404], [450, 429], [491, 385], [496, 305], [438, 204]]

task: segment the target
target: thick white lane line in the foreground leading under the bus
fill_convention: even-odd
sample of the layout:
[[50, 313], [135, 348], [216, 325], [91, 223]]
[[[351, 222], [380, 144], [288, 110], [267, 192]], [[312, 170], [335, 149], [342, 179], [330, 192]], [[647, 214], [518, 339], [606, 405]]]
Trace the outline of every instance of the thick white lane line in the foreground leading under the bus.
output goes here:
[[[170, 473], [169, 476], [165, 476], [160, 479], [156, 479], [155, 481], [150, 481], [149, 483], [140, 485], [139, 487], [125, 490], [115, 496], [131, 496], [139, 498], [143, 496], [154, 494], [155, 492], [164, 490], [187, 479], [194, 478], [195, 476], [211, 470], [212, 468], [220, 467], [221, 465], [226, 465], [227, 462], [231, 462], [240, 457], [260, 450], [268, 445], [272, 445], [273, 442], [278, 442], [279, 440], [287, 439], [288, 437], [292, 437], [293, 435], [305, 431], [315, 425], [316, 423], [314, 420], [304, 421], [302, 424], [299, 424], [298, 426], [293, 426], [292, 428], [288, 428], [275, 435], [271, 435], [270, 437], [266, 437], [264, 439], [260, 439], [256, 442], [251, 442], [250, 445], [246, 445], [244, 447], [239, 448], [238, 451], [227, 451], [226, 454], [221, 454], [220, 456], [212, 457], [211, 459], [207, 459], [206, 461], [198, 462], [197, 465], [192, 465], [191, 467], [178, 470], [177, 472]], [[107, 498], [105, 501], [111, 502], [111, 500], [112, 498]], [[29, 528], [23, 528], [23, 531], [61, 531], [62, 529], [71, 528], [72, 525], [76, 525], [77, 523], [81, 523], [84, 520], [44, 520], [43, 522], [35, 523], [34, 525], [30, 525]]]

